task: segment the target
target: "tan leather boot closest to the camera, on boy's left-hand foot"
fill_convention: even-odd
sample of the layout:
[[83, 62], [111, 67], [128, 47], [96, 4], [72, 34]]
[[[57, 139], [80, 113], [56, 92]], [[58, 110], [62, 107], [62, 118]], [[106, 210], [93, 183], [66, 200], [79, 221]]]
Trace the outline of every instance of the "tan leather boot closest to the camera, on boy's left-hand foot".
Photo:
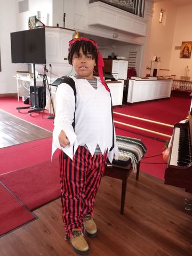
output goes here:
[[89, 245], [87, 244], [85, 238], [83, 237], [82, 230], [79, 230], [77, 228], [74, 228], [72, 230], [70, 243], [74, 251], [78, 254], [84, 255], [89, 252]]

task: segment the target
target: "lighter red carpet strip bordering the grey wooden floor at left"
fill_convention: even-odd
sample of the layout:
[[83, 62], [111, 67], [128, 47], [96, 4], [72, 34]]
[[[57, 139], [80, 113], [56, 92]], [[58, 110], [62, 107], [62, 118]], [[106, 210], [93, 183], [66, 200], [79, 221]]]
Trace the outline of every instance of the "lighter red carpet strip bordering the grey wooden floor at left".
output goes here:
[[[0, 149], [0, 175], [51, 161], [52, 137]], [[55, 153], [54, 157], [58, 154]]]

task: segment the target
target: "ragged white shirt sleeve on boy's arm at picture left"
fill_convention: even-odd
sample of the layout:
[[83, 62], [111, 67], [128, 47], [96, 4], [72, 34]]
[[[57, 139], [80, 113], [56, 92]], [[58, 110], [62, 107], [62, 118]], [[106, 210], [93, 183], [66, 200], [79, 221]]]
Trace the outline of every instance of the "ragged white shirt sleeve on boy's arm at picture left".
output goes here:
[[[70, 158], [73, 158], [73, 146], [76, 141], [72, 123], [75, 113], [75, 95], [73, 89], [68, 84], [60, 84], [55, 95], [56, 113], [54, 119], [52, 156], [54, 151], [62, 149]], [[59, 133], [63, 130], [70, 141], [70, 146], [62, 148], [59, 143]]]

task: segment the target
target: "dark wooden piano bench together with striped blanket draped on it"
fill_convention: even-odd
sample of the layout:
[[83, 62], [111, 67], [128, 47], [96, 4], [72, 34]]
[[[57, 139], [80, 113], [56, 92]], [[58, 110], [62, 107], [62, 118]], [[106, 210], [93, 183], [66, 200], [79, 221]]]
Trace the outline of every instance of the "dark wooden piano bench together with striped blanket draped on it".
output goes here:
[[127, 179], [133, 170], [139, 179], [140, 161], [147, 149], [140, 139], [116, 135], [118, 159], [107, 159], [103, 175], [122, 180], [121, 214], [124, 213]]

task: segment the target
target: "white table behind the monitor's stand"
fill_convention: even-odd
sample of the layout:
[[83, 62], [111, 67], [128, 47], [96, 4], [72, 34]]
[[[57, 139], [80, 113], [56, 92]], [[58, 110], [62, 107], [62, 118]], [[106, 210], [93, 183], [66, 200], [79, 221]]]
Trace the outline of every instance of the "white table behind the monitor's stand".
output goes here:
[[[30, 98], [30, 86], [34, 85], [34, 78], [30, 76], [21, 76], [16, 75], [17, 79], [17, 93], [18, 93], [18, 101], [19, 97], [29, 97]], [[36, 78], [36, 85], [43, 85], [43, 78]]]

